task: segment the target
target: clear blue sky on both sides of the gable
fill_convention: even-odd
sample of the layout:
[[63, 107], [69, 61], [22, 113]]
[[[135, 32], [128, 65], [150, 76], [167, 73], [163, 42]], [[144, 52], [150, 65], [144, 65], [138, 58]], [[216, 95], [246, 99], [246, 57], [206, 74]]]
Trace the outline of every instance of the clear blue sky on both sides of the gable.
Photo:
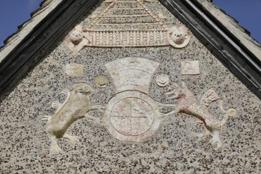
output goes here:
[[[17, 26], [30, 18], [42, 0], [2, 0], [0, 2], [0, 46]], [[55, 1], [55, 0], [54, 0]], [[213, 3], [233, 16], [261, 43], [261, 0], [213, 0]]]

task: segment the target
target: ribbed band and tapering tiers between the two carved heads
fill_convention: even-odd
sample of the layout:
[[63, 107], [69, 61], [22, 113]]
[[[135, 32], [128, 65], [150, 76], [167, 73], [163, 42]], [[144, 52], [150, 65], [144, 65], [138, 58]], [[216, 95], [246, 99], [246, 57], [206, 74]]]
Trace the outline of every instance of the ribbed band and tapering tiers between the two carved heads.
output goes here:
[[[146, 1], [149, 2], [149, 1]], [[90, 47], [146, 47], [169, 45], [167, 40], [167, 30], [160, 18], [151, 13], [141, 0], [135, 1], [105, 1], [110, 3], [108, 7], [100, 13], [93, 22], [84, 29], [86, 35], [91, 38]], [[118, 4], [135, 4], [138, 8], [126, 9], [117, 8]], [[134, 10], [140, 11], [135, 15], [108, 15], [111, 11]], [[144, 14], [144, 12], [146, 14]], [[146, 22], [128, 23], [104, 23], [103, 21], [114, 20], [116, 18], [149, 18]], [[97, 26], [106, 26], [105, 30], [95, 29]], [[147, 29], [147, 26], [155, 26], [154, 29]]]

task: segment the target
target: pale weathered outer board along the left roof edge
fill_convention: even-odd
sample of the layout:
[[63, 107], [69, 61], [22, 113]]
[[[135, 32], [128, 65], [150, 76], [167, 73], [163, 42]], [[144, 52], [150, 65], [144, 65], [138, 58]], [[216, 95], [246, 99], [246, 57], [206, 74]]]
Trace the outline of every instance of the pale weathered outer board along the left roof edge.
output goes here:
[[31, 13], [31, 18], [18, 26], [18, 30], [8, 36], [4, 46], [0, 47], [0, 63], [64, 0], [45, 0], [40, 7]]

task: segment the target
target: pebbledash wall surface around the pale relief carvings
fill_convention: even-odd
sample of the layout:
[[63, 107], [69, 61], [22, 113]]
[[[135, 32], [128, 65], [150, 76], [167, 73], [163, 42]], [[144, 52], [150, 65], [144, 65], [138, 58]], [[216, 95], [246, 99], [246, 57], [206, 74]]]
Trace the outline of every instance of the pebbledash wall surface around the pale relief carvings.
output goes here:
[[[147, 3], [152, 12], [162, 11], [168, 27], [182, 26], [158, 1]], [[98, 4], [95, 13], [107, 6]], [[126, 6], [128, 7], [128, 6]], [[92, 12], [92, 11], [91, 11]], [[86, 13], [79, 24], [89, 25], [92, 19]], [[112, 12], [113, 15], [116, 12]], [[124, 14], [135, 12], [123, 12]], [[120, 19], [118, 19], [120, 20]], [[76, 25], [76, 24], [75, 24]], [[102, 29], [103, 26], [100, 26]], [[64, 38], [69, 34], [64, 33]], [[84, 48], [80, 55], [71, 55], [61, 40], [50, 50], [42, 62], [21, 79], [10, 94], [0, 103], [0, 170], [3, 173], [258, 173], [260, 166], [260, 114], [261, 102], [240, 80], [233, 76], [200, 41], [191, 34], [189, 44], [183, 49], [167, 47], [146, 48]], [[53, 101], [64, 101], [60, 91], [77, 82], [86, 82], [95, 91], [90, 95], [92, 105], [108, 103], [116, 94], [112, 78], [105, 63], [120, 57], [147, 57], [160, 66], [151, 77], [148, 93], [151, 98], [163, 103], [168, 100], [164, 93], [170, 91], [173, 82], [185, 81], [195, 97], [199, 98], [208, 89], [214, 88], [224, 99], [224, 107], [236, 107], [237, 115], [229, 118], [220, 130], [223, 146], [214, 150], [211, 137], [202, 141], [189, 138], [191, 132], [204, 131], [198, 119], [178, 114], [168, 117], [154, 136], [142, 143], [117, 141], [106, 128], [82, 119], [68, 128], [68, 134], [78, 137], [80, 144], [71, 145], [58, 139], [59, 147], [66, 153], [49, 154], [51, 140], [46, 133], [46, 123], [41, 116], [55, 112], [50, 107]], [[182, 60], [199, 60], [201, 74], [181, 75]], [[84, 76], [66, 76], [64, 65], [77, 62], [84, 65]], [[170, 78], [169, 85], [162, 88], [156, 83], [158, 74]], [[104, 89], [92, 83], [97, 75], [108, 78]], [[217, 117], [216, 102], [209, 107]], [[163, 112], [172, 111], [164, 108]], [[97, 118], [101, 113], [91, 111]], [[70, 167], [64, 167], [70, 166]]]

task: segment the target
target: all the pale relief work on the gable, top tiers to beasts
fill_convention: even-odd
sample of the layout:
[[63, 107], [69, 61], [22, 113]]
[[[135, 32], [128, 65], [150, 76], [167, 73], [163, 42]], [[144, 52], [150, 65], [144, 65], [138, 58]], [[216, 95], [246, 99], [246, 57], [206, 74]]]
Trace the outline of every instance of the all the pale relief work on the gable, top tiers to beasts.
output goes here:
[[[147, 2], [147, 1], [146, 1]], [[88, 26], [77, 25], [66, 37], [65, 43], [72, 54], [80, 54], [84, 47], [97, 48], [133, 48], [133, 47], [166, 47], [182, 49], [189, 44], [190, 31], [185, 26], [166, 26], [161, 12], [154, 14], [146, 6], [145, 1], [119, 1], [107, 0], [103, 4], [106, 8], [95, 13]], [[123, 7], [128, 8], [122, 8]], [[127, 12], [127, 14], [125, 14]], [[123, 15], [125, 14], [125, 15]], [[117, 23], [117, 18], [121, 18]], [[128, 23], [128, 18], [136, 18], [135, 22]], [[141, 20], [142, 19], [142, 20]], [[143, 20], [144, 19], [144, 20]], [[146, 22], [144, 22], [146, 19]], [[139, 22], [139, 20], [141, 20]], [[204, 138], [212, 135], [211, 144], [221, 147], [219, 128], [225, 124], [228, 116], [234, 116], [236, 111], [232, 108], [225, 111], [223, 101], [214, 92], [208, 90], [198, 101], [187, 88], [185, 82], [182, 86], [170, 82], [166, 74], [159, 74], [156, 83], [164, 87], [169, 83], [175, 84], [173, 91], [166, 93], [174, 104], [164, 104], [150, 97], [149, 85], [151, 77], [160, 66], [160, 62], [144, 57], [117, 58], [104, 64], [110, 73], [116, 93], [103, 105], [92, 105], [90, 94], [93, 92], [90, 84], [78, 82], [65, 89], [67, 95], [63, 103], [53, 102], [57, 110], [51, 116], [44, 116], [47, 120], [47, 132], [52, 140], [51, 151], [60, 151], [57, 138], [65, 138], [77, 142], [79, 137], [67, 134], [68, 127], [76, 120], [86, 118], [104, 126], [114, 138], [124, 142], [144, 142], [153, 136], [161, 122], [170, 115], [183, 113], [197, 117], [205, 128], [204, 133], [193, 133], [194, 137]], [[181, 63], [183, 75], [200, 74], [198, 61], [183, 61]], [[68, 76], [82, 76], [81, 64], [68, 64]], [[97, 88], [106, 88], [108, 79], [97, 75], [94, 79]], [[220, 108], [224, 118], [218, 117], [208, 111], [211, 102], [220, 100]], [[163, 114], [163, 107], [175, 108], [172, 112]], [[102, 118], [89, 114], [92, 110], [103, 113]]]

